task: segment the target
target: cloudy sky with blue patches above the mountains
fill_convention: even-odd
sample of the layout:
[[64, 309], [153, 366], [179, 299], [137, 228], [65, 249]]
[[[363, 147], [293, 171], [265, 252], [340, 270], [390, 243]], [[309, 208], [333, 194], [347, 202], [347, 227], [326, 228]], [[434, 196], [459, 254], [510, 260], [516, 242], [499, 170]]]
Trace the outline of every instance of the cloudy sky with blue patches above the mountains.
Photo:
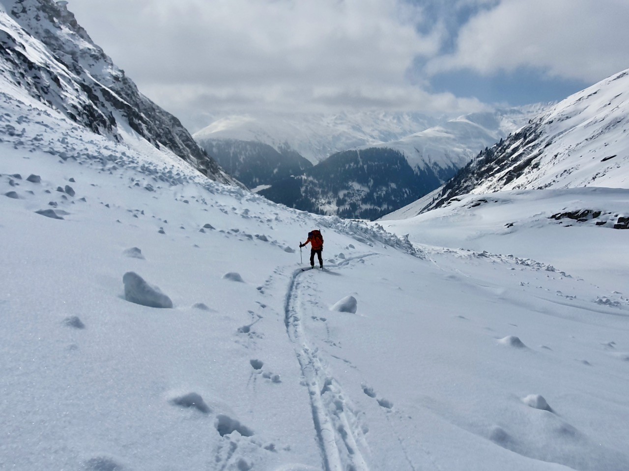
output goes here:
[[629, 67], [627, 0], [70, 0], [191, 131], [257, 111], [460, 114]]

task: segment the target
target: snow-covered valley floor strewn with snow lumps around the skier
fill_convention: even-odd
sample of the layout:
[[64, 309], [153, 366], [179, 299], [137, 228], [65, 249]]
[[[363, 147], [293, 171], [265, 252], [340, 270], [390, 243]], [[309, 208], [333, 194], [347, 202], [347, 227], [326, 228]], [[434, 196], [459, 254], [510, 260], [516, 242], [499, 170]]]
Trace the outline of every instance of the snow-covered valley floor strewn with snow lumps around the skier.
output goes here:
[[[413, 247], [17, 95], [0, 97], [1, 469], [629, 468], [626, 231], [509, 193], [387, 222]], [[553, 214], [627, 200], [555, 196]], [[326, 269], [301, 271], [315, 228]], [[172, 308], [126, 300], [152, 286]]]

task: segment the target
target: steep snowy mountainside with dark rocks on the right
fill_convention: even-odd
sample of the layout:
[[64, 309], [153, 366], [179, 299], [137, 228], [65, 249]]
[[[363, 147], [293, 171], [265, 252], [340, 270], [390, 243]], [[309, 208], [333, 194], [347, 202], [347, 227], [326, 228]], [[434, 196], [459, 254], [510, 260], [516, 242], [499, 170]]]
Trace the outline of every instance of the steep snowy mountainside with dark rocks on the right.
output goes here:
[[387, 219], [465, 193], [535, 188], [629, 188], [629, 70], [562, 100], [486, 149], [437, 191]]

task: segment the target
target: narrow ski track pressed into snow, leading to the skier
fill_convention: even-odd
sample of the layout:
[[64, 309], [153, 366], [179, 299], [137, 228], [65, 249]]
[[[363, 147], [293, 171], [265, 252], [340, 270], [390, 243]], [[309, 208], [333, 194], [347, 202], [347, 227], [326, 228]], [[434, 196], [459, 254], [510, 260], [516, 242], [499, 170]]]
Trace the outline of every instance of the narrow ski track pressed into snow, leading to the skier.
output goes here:
[[[350, 261], [377, 254], [365, 254], [349, 258], [337, 267]], [[306, 304], [302, 297], [299, 275], [306, 273], [298, 269], [292, 273], [284, 305], [286, 332], [294, 344], [296, 357], [308, 387], [313, 423], [317, 434], [325, 471], [369, 471], [360, 448], [367, 443], [357, 426], [357, 419], [348, 408], [343, 389], [326, 369], [318, 355], [311, 349], [303, 330], [301, 306]], [[359, 445], [360, 442], [360, 445]], [[348, 465], [348, 466], [345, 466]]]

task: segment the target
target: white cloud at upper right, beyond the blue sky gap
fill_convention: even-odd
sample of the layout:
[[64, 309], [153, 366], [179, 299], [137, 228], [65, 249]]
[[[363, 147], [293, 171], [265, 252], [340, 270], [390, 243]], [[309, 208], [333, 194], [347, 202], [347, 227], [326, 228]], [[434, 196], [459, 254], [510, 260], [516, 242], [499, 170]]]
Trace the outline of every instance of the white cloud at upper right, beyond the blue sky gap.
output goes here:
[[626, 0], [503, 0], [462, 26], [455, 52], [433, 58], [426, 71], [533, 67], [595, 82], [629, 67], [627, 21]]

